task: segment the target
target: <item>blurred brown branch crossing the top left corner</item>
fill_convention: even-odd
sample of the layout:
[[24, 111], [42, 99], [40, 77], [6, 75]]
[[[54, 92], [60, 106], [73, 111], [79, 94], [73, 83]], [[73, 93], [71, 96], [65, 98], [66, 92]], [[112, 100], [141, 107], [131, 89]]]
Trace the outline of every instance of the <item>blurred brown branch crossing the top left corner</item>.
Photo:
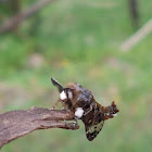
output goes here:
[[37, 11], [42, 9], [48, 3], [52, 2], [53, 0], [40, 0], [38, 3], [31, 5], [29, 9], [21, 12], [20, 14], [13, 16], [5, 21], [5, 23], [0, 27], [0, 34], [5, 31], [10, 31], [11, 29], [15, 28], [18, 24], [21, 24], [27, 17], [34, 15]]

